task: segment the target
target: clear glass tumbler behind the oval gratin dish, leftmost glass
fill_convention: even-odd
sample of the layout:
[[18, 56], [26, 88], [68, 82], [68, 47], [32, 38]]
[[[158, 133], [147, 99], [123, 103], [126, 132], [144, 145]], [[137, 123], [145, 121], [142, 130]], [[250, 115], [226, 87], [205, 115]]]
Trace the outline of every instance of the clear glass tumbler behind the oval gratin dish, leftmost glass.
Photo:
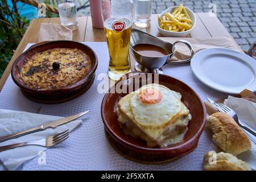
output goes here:
[[57, 0], [57, 3], [61, 24], [76, 30], [78, 27], [76, 0]]

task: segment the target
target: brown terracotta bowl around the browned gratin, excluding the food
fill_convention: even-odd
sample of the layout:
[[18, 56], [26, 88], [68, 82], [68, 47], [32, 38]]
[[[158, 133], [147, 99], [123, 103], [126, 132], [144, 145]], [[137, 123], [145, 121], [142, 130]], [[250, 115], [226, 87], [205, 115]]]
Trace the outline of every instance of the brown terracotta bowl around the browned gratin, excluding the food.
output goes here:
[[[36, 52], [43, 52], [52, 48], [78, 48], [84, 51], [92, 61], [92, 69], [83, 77], [80, 81], [75, 84], [65, 86], [63, 88], [58, 89], [48, 89], [48, 90], [36, 90], [33, 88], [29, 88], [26, 86], [22, 79], [20, 78], [20, 70], [22, 68], [23, 61], [27, 59], [27, 57], [31, 57]], [[16, 85], [22, 90], [22, 93], [28, 99], [41, 102], [45, 104], [55, 104], [60, 102], [65, 102], [71, 100], [80, 94], [84, 93], [86, 90], [90, 88], [93, 84], [95, 78], [95, 71], [97, 69], [98, 59], [96, 53], [92, 48], [86, 46], [85, 44], [68, 41], [68, 40], [58, 40], [51, 42], [43, 42], [32, 46], [32, 48], [23, 52], [14, 62], [13, 67], [11, 69], [11, 77], [13, 78]]]

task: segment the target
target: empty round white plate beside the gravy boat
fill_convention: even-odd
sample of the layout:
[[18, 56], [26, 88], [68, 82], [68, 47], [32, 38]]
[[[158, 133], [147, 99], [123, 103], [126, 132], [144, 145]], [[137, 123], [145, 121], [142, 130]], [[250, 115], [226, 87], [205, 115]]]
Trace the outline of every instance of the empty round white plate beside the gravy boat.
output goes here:
[[256, 92], [256, 60], [228, 48], [209, 48], [191, 60], [194, 75], [205, 85], [229, 94]]

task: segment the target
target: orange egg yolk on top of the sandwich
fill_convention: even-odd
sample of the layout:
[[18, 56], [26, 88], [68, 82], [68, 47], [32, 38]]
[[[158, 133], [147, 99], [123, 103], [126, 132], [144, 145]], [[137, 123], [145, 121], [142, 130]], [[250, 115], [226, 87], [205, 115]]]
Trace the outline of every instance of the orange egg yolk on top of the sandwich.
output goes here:
[[156, 89], [144, 89], [139, 94], [139, 100], [144, 104], [156, 104], [162, 99], [163, 95], [159, 90]]

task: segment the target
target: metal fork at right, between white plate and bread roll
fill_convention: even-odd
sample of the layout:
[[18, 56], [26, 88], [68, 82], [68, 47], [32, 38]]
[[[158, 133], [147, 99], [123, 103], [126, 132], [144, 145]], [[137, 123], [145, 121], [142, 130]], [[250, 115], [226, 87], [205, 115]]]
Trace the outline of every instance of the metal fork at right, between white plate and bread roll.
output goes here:
[[208, 101], [209, 101], [211, 104], [213, 104], [213, 105], [215, 106], [215, 108], [216, 108], [218, 111], [230, 115], [230, 116], [234, 119], [234, 121], [237, 122], [238, 126], [242, 127], [243, 129], [245, 129], [246, 131], [248, 131], [249, 133], [253, 134], [253, 135], [256, 137], [256, 133], [253, 131], [253, 129], [249, 129], [249, 126], [244, 126], [244, 125], [242, 125], [242, 124], [240, 123], [240, 121], [239, 121], [239, 119], [238, 119], [238, 117], [237, 117], [237, 114], [236, 114], [236, 112], [235, 112], [234, 110], [232, 110], [230, 107], [228, 107], [228, 106], [226, 106], [226, 105], [224, 105], [224, 104], [221, 104], [221, 103], [219, 103], [219, 102], [215, 102], [215, 101], [211, 100], [211, 99], [208, 98], [208, 97], [207, 97], [207, 99], [208, 99]]

